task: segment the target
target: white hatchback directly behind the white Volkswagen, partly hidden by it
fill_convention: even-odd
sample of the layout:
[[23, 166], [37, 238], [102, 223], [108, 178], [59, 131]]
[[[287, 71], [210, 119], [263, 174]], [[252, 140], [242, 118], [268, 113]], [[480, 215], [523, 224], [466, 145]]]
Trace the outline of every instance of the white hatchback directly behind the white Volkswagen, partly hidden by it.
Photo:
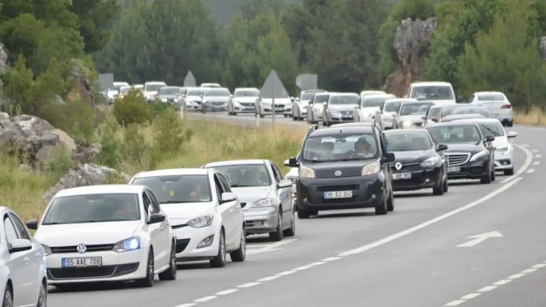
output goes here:
[[129, 184], [155, 192], [176, 236], [176, 261], [209, 260], [224, 267], [226, 253], [234, 262], [246, 257], [245, 220], [241, 203], [225, 177], [203, 168], [141, 172]]

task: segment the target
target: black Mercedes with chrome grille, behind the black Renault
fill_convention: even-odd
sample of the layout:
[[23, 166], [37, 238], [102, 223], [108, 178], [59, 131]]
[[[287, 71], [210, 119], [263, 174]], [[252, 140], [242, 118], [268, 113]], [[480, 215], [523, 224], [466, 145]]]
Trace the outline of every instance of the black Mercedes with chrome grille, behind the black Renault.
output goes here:
[[436, 145], [448, 146], [448, 179], [480, 179], [481, 183], [495, 180], [495, 137], [485, 136], [477, 123], [437, 123], [425, 129]]

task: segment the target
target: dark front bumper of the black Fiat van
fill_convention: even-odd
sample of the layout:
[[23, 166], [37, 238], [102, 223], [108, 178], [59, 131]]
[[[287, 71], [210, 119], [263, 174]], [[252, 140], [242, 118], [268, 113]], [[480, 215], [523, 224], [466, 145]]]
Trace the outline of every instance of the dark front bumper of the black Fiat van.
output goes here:
[[[299, 178], [298, 210], [319, 211], [373, 208], [383, 202], [384, 179], [379, 175], [345, 178]], [[324, 199], [324, 192], [352, 191], [351, 198]]]

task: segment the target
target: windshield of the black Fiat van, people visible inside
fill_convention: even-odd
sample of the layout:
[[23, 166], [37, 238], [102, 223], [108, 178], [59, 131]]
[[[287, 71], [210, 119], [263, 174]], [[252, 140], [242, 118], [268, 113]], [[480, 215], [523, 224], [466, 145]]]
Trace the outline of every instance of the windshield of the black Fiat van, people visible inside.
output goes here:
[[308, 137], [303, 147], [303, 160], [335, 162], [366, 160], [377, 155], [373, 134]]

